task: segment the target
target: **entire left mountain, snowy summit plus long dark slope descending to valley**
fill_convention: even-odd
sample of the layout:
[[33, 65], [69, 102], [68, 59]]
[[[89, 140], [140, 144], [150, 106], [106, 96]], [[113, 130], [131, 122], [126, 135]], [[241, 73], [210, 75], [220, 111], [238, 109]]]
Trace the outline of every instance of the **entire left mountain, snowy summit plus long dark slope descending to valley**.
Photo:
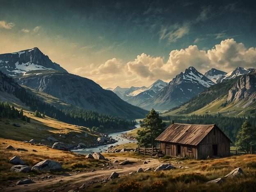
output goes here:
[[87, 110], [128, 119], [143, 118], [147, 113], [146, 110], [126, 103], [94, 81], [68, 73], [38, 48], [1, 54], [0, 71], [13, 77], [20, 85]]

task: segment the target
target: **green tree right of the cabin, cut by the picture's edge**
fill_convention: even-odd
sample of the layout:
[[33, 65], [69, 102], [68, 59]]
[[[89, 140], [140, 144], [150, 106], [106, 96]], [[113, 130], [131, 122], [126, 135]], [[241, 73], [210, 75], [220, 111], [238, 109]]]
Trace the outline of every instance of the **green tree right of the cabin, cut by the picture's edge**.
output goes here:
[[242, 124], [242, 128], [238, 132], [236, 139], [235, 146], [238, 147], [238, 150], [249, 153], [249, 151], [252, 152], [252, 149], [255, 149], [256, 130], [255, 128], [252, 128], [251, 123], [248, 120]]

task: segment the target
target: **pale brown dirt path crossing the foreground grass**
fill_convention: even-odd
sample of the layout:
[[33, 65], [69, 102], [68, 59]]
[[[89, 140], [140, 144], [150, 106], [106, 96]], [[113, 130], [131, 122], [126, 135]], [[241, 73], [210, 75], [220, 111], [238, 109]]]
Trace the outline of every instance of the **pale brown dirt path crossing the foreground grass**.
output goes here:
[[[115, 160], [123, 159], [122, 157], [115, 158]], [[151, 169], [155, 169], [161, 163], [157, 159], [147, 158], [147, 164], [144, 164], [144, 160], [138, 158], [127, 158], [132, 164], [127, 165], [119, 165], [118, 163], [111, 163], [108, 167], [96, 169], [96, 171], [87, 171], [87, 172], [70, 172], [65, 175], [55, 175], [51, 178], [30, 178], [35, 183], [27, 184], [27, 185], [14, 185], [7, 186], [2, 188], [2, 191], [69, 191], [69, 190], [81, 190], [83, 184], [86, 188], [90, 188], [92, 185], [96, 183], [102, 183], [110, 181], [110, 175], [112, 172], [117, 172], [119, 177], [126, 176], [133, 172], [136, 174], [139, 167], [142, 169], [146, 169], [151, 167]], [[61, 183], [61, 184], [60, 184]], [[54, 187], [55, 185], [55, 187]], [[57, 187], [56, 187], [57, 186]], [[49, 188], [48, 188], [49, 187]]]

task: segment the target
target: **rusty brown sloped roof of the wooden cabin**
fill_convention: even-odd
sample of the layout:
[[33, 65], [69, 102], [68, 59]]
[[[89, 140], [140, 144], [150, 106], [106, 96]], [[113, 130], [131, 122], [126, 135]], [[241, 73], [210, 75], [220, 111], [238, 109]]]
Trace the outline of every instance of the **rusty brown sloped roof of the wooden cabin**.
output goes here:
[[188, 145], [198, 145], [212, 130], [213, 125], [171, 124], [155, 140]]

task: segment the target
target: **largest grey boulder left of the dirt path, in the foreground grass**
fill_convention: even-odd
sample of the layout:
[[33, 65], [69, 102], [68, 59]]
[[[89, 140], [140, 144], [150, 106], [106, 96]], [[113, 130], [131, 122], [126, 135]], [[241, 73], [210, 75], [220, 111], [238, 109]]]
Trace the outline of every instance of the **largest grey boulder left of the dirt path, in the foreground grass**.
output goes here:
[[34, 171], [61, 171], [62, 165], [53, 160], [44, 160], [32, 167]]

